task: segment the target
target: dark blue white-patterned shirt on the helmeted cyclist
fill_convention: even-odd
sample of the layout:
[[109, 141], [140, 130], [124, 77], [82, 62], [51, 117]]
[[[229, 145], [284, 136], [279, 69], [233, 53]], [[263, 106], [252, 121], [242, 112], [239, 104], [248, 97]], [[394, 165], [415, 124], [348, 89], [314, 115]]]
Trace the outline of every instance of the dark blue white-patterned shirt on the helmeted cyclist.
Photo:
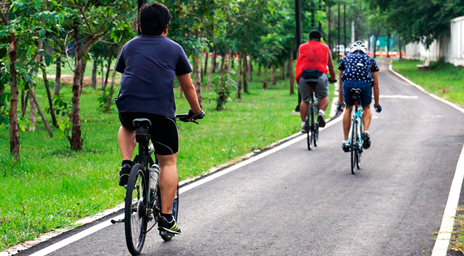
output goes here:
[[364, 81], [374, 86], [372, 72], [378, 72], [375, 60], [367, 54], [353, 53], [342, 58], [338, 70], [344, 70], [342, 81]]

